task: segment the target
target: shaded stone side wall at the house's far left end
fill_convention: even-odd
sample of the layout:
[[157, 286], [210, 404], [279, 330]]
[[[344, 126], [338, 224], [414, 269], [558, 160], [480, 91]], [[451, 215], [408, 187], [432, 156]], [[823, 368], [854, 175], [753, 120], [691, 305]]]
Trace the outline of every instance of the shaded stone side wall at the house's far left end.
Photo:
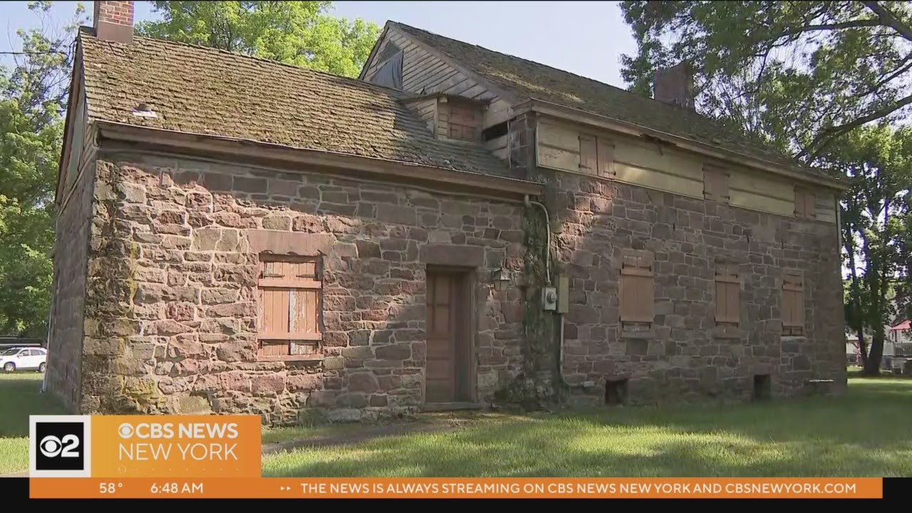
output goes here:
[[79, 175], [72, 193], [57, 214], [54, 258], [54, 299], [47, 352], [47, 390], [67, 411], [81, 401], [82, 330], [85, 310], [86, 260], [91, 236], [93, 166]]

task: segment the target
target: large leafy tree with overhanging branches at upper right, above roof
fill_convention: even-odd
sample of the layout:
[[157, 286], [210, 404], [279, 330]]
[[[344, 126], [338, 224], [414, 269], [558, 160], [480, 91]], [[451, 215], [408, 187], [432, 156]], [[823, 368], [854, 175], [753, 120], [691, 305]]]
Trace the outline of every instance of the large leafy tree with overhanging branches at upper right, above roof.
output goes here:
[[912, 105], [912, 3], [645, 2], [621, 9], [637, 39], [622, 76], [648, 94], [658, 68], [695, 71], [698, 105], [807, 162]]

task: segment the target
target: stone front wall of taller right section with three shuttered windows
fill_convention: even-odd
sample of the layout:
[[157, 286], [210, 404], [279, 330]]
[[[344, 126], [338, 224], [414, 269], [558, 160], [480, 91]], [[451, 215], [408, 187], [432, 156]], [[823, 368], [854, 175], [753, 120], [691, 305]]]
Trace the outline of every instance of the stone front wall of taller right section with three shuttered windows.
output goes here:
[[[568, 382], [627, 379], [630, 403], [751, 397], [770, 374], [774, 396], [833, 379], [845, 390], [844, 312], [833, 224], [766, 215], [571, 173], [555, 173], [558, 257], [570, 276], [565, 322]], [[625, 338], [618, 322], [621, 251], [655, 256], [655, 321]], [[719, 262], [741, 275], [741, 333], [720, 338], [714, 320]], [[800, 269], [805, 336], [781, 337], [782, 272]]]

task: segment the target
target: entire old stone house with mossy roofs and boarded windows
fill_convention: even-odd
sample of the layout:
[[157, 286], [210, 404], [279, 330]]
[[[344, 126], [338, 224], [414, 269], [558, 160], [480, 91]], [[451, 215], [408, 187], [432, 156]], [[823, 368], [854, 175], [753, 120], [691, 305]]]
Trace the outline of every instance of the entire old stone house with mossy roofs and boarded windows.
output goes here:
[[47, 388], [264, 422], [845, 390], [843, 185], [694, 110], [389, 22], [359, 79], [84, 27]]

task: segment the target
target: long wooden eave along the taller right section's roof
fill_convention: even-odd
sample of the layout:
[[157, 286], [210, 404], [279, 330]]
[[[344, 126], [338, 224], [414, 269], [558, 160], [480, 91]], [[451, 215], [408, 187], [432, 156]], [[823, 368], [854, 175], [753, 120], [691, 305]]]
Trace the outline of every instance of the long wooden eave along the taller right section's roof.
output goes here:
[[511, 117], [518, 116], [524, 112], [529, 111], [539, 112], [541, 114], [554, 116], [555, 118], [571, 120], [609, 131], [625, 133], [627, 135], [632, 135], [635, 137], [652, 137], [673, 144], [682, 150], [700, 153], [702, 155], [719, 159], [721, 161], [741, 164], [745, 167], [750, 167], [752, 169], [757, 169], [768, 173], [779, 174], [781, 176], [805, 183], [814, 183], [816, 185], [822, 185], [824, 187], [829, 187], [838, 191], [845, 191], [848, 189], [848, 184], [834, 178], [805, 173], [803, 171], [783, 166], [775, 162], [765, 161], [751, 155], [732, 152], [731, 150], [725, 150], [723, 148], [713, 146], [705, 142], [693, 141], [679, 135], [674, 135], [664, 131], [657, 131], [655, 129], [650, 129], [648, 127], [640, 126], [628, 121], [617, 120], [616, 118], [602, 116], [588, 110], [574, 109], [572, 107], [567, 107], [565, 105], [560, 105], [541, 99], [527, 99], [522, 103], [514, 105], [512, 110], [513, 114]]

